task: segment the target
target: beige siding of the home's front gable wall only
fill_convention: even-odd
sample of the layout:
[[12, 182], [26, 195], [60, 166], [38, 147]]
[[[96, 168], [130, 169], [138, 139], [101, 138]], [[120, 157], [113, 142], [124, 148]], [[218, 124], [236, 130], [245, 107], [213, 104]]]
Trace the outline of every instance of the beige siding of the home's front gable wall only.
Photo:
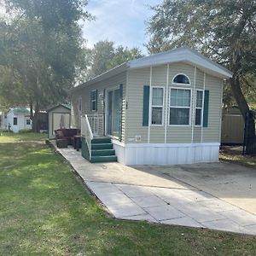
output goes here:
[[[172, 79], [178, 73], [189, 77], [190, 84], [172, 84]], [[166, 102], [167, 65], [152, 67], [152, 86], [163, 86], [164, 96], [164, 123], [162, 126], [143, 126], [143, 85], [150, 84], [150, 67], [129, 70], [127, 74], [127, 100], [125, 123], [125, 143], [218, 143], [219, 120], [221, 109], [222, 79], [203, 73], [199, 68], [186, 63], [173, 63], [169, 65], [168, 73], [168, 100]], [[205, 80], [206, 79], [206, 80]], [[210, 90], [209, 125], [207, 128], [195, 126], [195, 96], [196, 90]], [[191, 89], [190, 125], [169, 125], [170, 88]], [[167, 109], [166, 109], [167, 108]], [[166, 119], [166, 110], [167, 116]], [[149, 109], [150, 114], [151, 109]], [[167, 121], [167, 125], [166, 125]], [[135, 137], [140, 136], [140, 141]], [[203, 140], [202, 140], [203, 138]]]

